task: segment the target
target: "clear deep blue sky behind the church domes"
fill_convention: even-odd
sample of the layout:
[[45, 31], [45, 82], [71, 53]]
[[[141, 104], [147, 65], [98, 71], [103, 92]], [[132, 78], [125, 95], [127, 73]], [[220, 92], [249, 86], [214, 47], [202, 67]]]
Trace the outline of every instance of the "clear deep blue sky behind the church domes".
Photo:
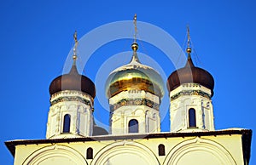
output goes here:
[[[132, 20], [134, 14], [137, 14], [138, 20], [167, 31], [182, 48], [189, 24], [196, 51], [193, 60], [196, 65], [211, 72], [215, 79], [212, 98], [215, 128], [255, 130], [255, 5], [253, 0], [2, 2], [1, 164], [13, 164], [13, 157], [4, 141], [45, 139], [49, 83], [62, 72], [73, 47], [73, 32], [77, 30], [80, 38], [98, 26]], [[96, 41], [97, 38], [91, 39], [91, 44]], [[104, 61], [114, 54], [131, 51], [130, 45], [131, 41], [126, 39], [98, 48], [90, 55], [84, 68], [85, 74], [96, 82]], [[86, 45], [83, 47], [86, 48]], [[168, 61], [166, 55], [154, 45], [143, 43], [139, 51], [156, 60], [166, 77], [175, 70], [172, 61]], [[125, 58], [126, 63], [129, 62], [130, 57]], [[103, 94], [101, 91], [97, 94]], [[96, 98], [95, 117], [108, 122], [108, 113], [99, 102], [101, 100]], [[166, 111], [166, 107], [163, 109]], [[161, 128], [169, 130], [168, 116]], [[252, 165], [256, 164], [255, 138], [253, 134]]]

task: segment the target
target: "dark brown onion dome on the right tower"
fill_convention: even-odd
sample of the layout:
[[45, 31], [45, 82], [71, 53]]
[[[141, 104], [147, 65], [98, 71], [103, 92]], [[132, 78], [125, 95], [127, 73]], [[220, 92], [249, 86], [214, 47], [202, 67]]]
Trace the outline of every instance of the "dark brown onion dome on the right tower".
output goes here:
[[211, 89], [213, 95], [214, 79], [212, 75], [208, 71], [196, 67], [193, 64], [190, 54], [186, 65], [177, 71], [173, 71], [170, 77], [168, 77], [167, 88], [170, 92], [183, 83], [199, 83]]

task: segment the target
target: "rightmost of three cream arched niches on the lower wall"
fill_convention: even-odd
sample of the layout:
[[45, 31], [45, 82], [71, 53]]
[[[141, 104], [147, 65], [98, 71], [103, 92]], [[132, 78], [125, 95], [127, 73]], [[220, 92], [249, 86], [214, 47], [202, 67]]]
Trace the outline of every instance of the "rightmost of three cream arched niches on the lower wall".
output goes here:
[[189, 139], [176, 145], [167, 154], [164, 165], [236, 165], [236, 161], [223, 145], [210, 139]]

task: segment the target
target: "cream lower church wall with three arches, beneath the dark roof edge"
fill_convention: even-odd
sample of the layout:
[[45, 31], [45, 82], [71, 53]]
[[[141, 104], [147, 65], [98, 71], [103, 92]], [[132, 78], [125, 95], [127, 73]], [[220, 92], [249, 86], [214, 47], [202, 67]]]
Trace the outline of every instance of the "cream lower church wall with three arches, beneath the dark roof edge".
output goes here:
[[242, 165], [247, 160], [241, 137], [247, 131], [151, 134], [138, 139], [135, 134], [110, 135], [108, 139], [47, 139], [47, 143], [35, 140], [33, 144], [15, 141], [15, 165]]

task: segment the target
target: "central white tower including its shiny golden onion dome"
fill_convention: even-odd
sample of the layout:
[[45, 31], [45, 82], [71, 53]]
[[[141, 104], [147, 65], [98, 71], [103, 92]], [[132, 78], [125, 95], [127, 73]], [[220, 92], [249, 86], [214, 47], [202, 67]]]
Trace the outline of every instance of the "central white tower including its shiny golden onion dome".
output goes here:
[[163, 82], [157, 71], [140, 63], [137, 43], [131, 48], [131, 62], [112, 71], [106, 83], [110, 134], [158, 133]]

